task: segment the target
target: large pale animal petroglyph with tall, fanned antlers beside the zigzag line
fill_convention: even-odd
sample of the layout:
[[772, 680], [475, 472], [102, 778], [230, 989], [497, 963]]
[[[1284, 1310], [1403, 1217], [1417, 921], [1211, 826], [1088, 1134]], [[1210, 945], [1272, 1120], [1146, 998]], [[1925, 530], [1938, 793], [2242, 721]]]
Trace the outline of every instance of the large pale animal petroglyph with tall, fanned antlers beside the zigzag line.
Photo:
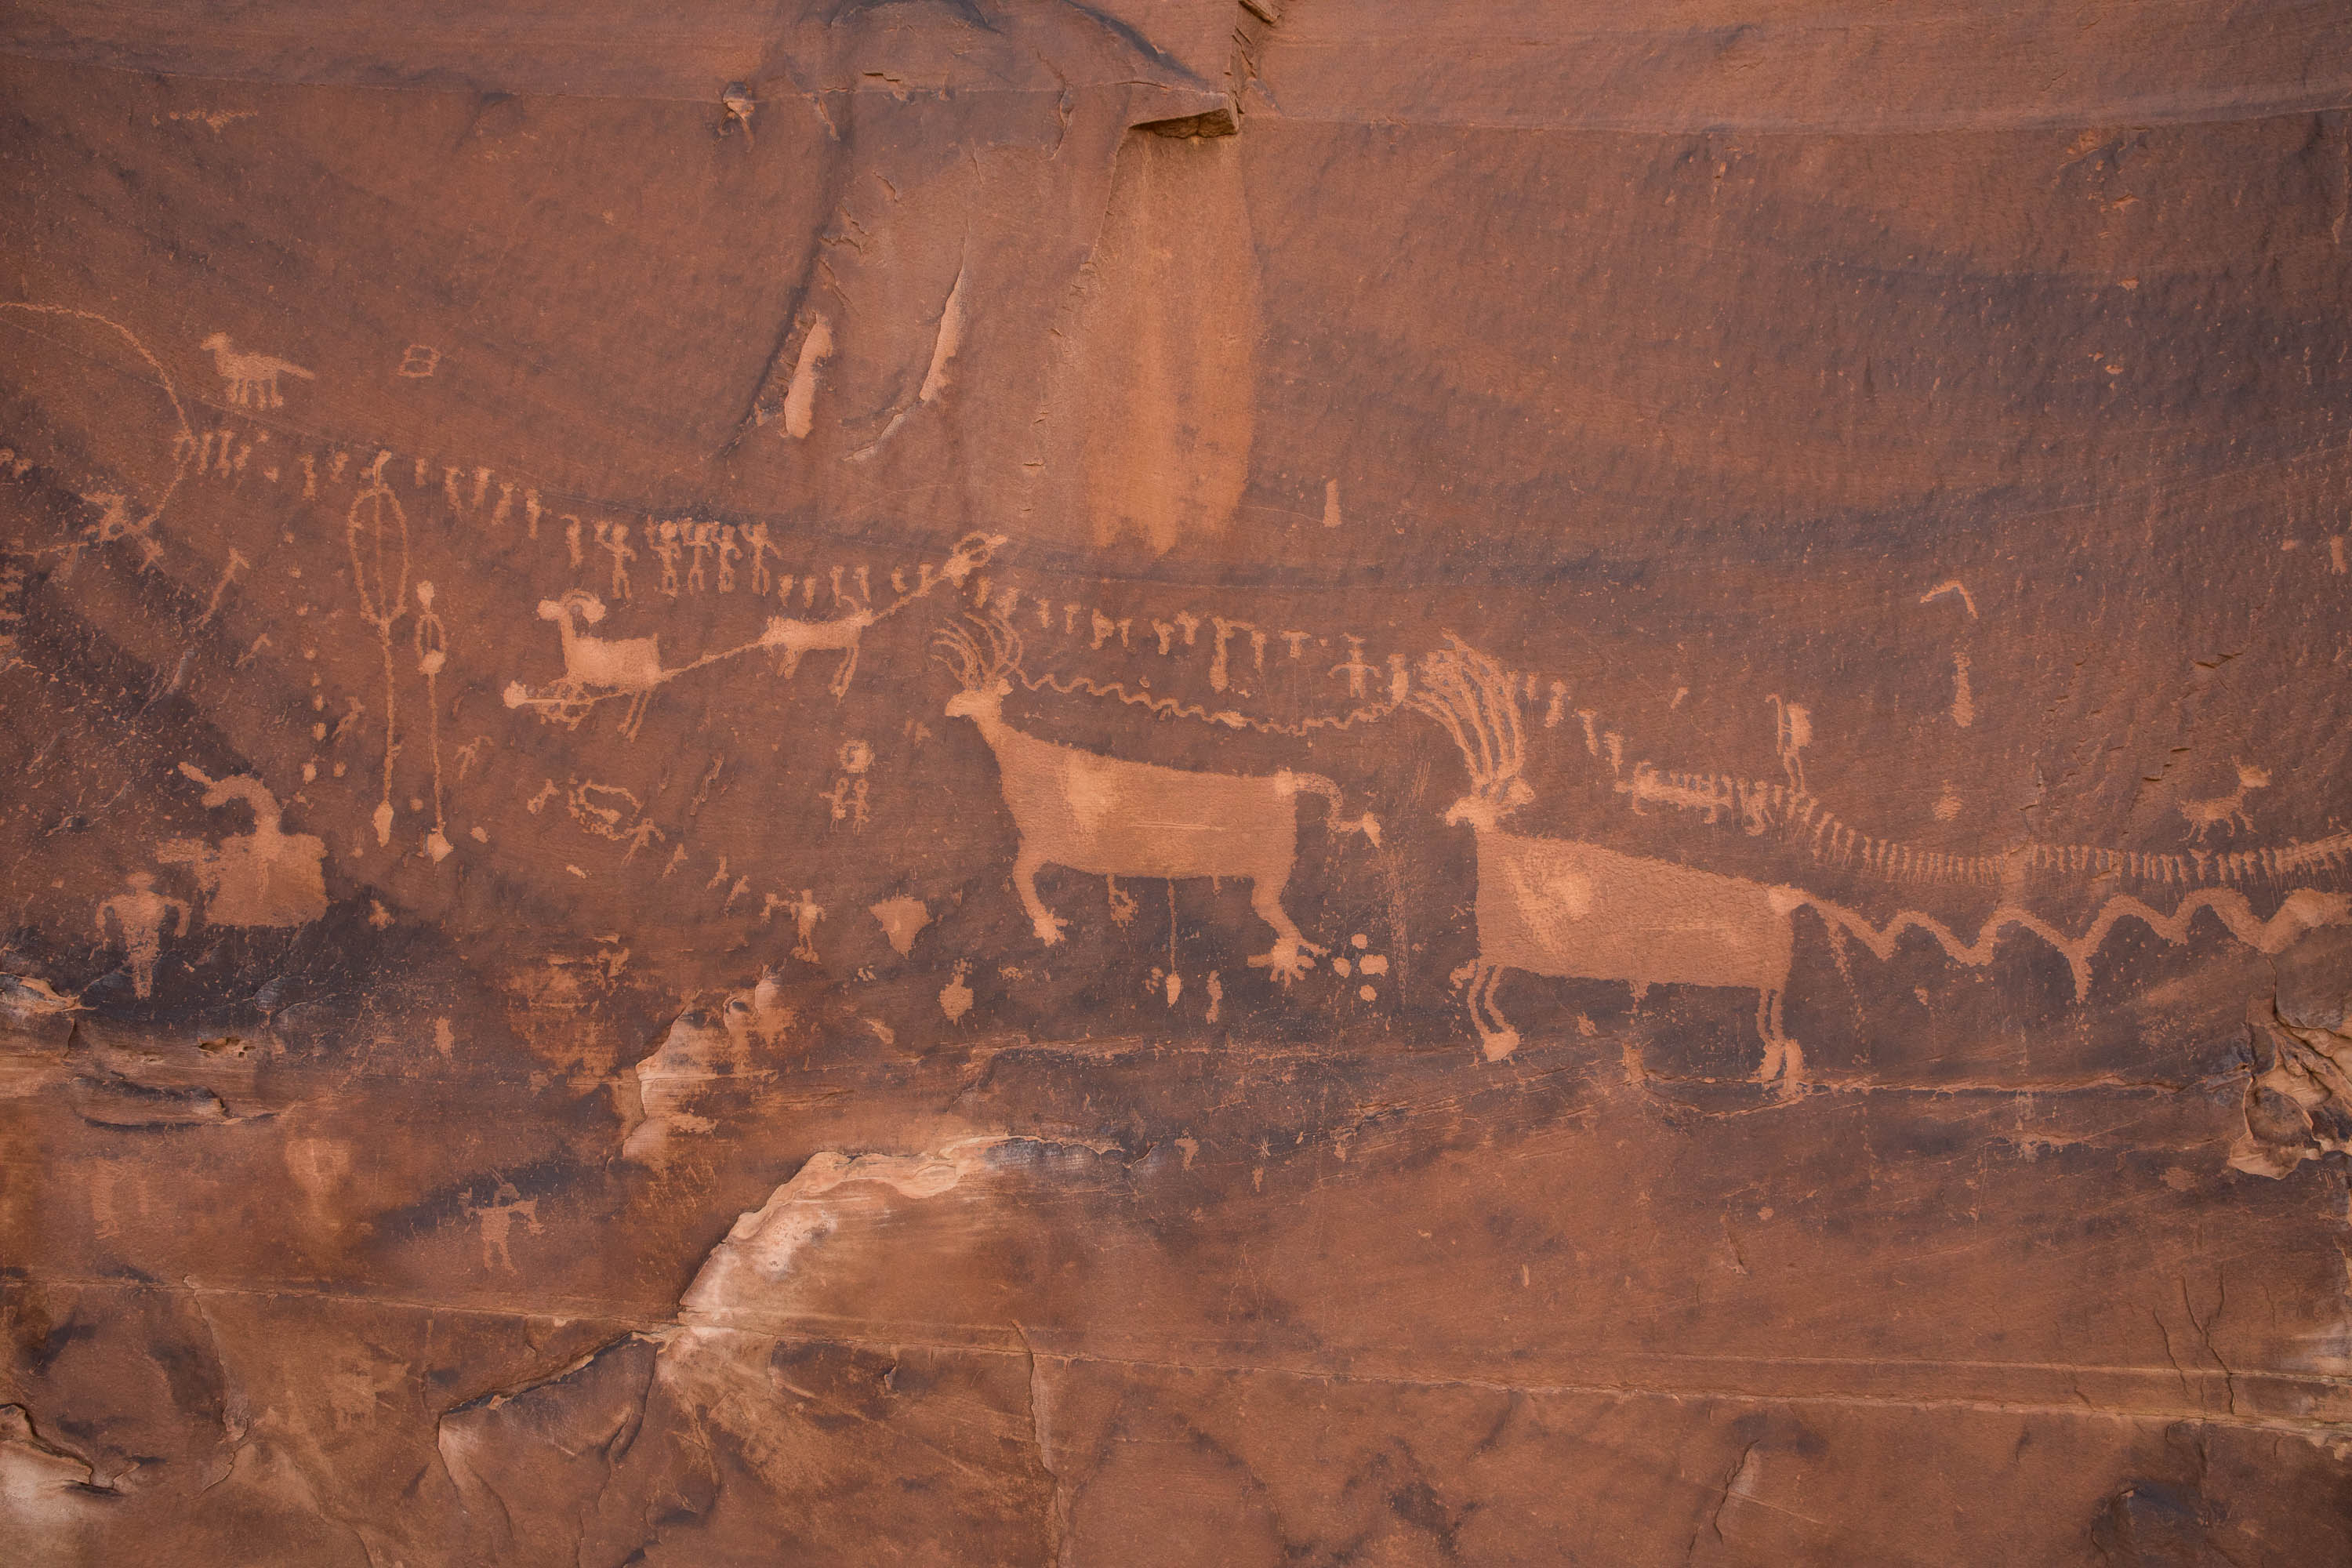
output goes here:
[[1470, 769], [1470, 795], [1444, 820], [1468, 823], [1477, 839], [1479, 952], [1468, 999], [1486, 1060], [1519, 1048], [1519, 1032], [1494, 1004], [1508, 969], [1625, 980], [1635, 997], [1651, 985], [1722, 985], [1757, 994], [1757, 1081], [1778, 1077], [1783, 1093], [1797, 1093], [1804, 1053], [1780, 1032], [1780, 992], [1797, 947], [1788, 917], [1806, 896], [1599, 844], [1505, 832], [1503, 818], [1536, 799], [1519, 778], [1517, 691], [1498, 663], [1458, 637], [1446, 642], [1421, 661], [1421, 686], [1406, 705], [1437, 719]]

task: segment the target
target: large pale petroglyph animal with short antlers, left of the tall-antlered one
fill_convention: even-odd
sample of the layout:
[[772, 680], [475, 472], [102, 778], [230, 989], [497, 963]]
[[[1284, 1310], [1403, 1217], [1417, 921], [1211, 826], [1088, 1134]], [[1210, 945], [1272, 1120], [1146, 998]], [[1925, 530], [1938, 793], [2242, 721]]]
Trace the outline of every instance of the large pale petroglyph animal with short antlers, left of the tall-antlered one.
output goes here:
[[[969, 616], [978, 637], [946, 628], [941, 658], [962, 691], [948, 698], [950, 719], [971, 719], [997, 757], [1004, 806], [1021, 832], [1014, 889], [1037, 929], [1054, 945], [1068, 924], [1037, 898], [1037, 872], [1063, 865], [1103, 877], [1232, 877], [1249, 882], [1249, 907], [1275, 929], [1275, 945], [1249, 959], [1282, 983], [1305, 973], [1324, 950], [1305, 940], [1282, 907], [1282, 889], [1298, 853], [1298, 795], [1322, 795], [1338, 811], [1338, 785], [1317, 773], [1282, 771], [1188, 773], [1145, 762], [1098, 757], [1025, 736], [1004, 722], [1004, 698], [1021, 670], [1021, 635], [1004, 621]], [[1381, 842], [1367, 811], [1352, 823], [1327, 818], [1331, 830]]]

